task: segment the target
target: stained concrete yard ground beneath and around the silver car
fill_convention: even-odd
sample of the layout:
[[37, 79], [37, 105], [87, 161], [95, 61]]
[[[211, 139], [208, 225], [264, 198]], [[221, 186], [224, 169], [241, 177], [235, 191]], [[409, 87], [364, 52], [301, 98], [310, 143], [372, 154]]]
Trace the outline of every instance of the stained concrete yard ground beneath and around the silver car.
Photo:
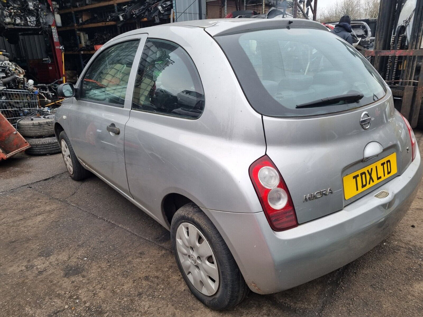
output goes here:
[[422, 194], [354, 262], [215, 312], [184, 284], [168, 231], [99, 178], [71, 180], [60, 154], [20, 154], [0, 162], [1, 315], [423, 316]]

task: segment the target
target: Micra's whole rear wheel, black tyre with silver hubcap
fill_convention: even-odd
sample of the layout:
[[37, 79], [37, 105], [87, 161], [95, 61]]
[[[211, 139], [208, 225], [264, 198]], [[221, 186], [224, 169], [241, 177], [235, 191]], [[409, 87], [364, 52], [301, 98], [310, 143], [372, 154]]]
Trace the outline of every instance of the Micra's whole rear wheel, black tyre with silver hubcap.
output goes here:
[[211, 220], [194, 203], [181, 207], [170, 227], [173, 253], [191, 292], [211, 309], [240, 303], [249, 288]]

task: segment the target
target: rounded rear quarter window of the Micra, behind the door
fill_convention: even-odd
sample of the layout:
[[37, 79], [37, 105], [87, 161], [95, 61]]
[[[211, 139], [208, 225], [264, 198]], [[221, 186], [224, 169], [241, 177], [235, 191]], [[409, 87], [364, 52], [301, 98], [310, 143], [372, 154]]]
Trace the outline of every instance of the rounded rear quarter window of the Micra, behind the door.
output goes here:
[[195, 119], [204, 109], [204, 92], [190, 56], [181, 46], [147, 40], [138, 68], [132, 109]]

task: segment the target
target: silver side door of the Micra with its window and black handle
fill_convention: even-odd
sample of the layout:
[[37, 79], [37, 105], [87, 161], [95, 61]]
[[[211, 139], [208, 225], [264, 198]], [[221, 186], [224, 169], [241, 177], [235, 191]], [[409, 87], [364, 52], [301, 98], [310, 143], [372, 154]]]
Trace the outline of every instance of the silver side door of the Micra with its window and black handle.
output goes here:
[[[102, 48], [77, 83], [69, 109], [69, 137], [78, 158], [104, 180], [129, 194], [124, 159], [137, 67], [145, 35], [126, 36]], [[138, 55], [137, 55], [138, 54]]]

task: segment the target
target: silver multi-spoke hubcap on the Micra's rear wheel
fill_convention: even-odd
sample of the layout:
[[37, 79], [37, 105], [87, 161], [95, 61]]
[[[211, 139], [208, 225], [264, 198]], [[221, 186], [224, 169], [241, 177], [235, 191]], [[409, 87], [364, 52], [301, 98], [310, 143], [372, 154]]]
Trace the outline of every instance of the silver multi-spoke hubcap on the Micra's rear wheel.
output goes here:
[[184, 222], [176, 230], [176, 249], [188, 279], [204, 295], [219, 288], [219, 271], [213, 251], [204, 235], [193, 224]]

